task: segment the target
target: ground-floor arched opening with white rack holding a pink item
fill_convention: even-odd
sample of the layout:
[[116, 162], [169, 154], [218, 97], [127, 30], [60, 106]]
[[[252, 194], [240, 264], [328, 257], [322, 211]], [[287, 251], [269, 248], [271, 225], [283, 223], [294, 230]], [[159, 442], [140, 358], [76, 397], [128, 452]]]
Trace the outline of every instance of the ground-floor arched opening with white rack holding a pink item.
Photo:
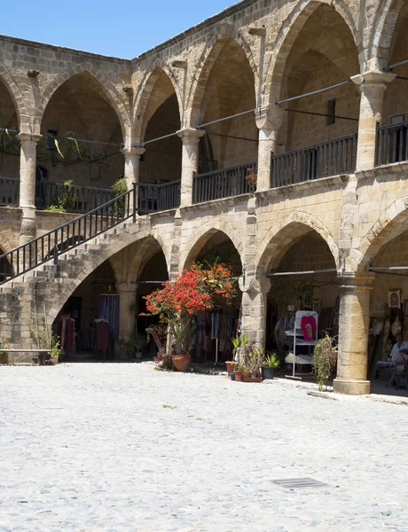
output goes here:
[[[271, 279], [266, 309], [266, 351], [279, 356], [282, 374], [315, 379], [313, 343], [305, 344], [296, 335], [294, 358], [294, 319], [298, 311], [317, 312], [313, 339], [327, 332], [339, 332], [339, 282], [336, 262], [325, 239], [301, 223], [292, 223], [274, 237], [266, 268]], [[272, 251], [272, 248], [271, 248]], [[313, 315], [314, 316], [314, 315]], [[286, 334], [291, 332], [291, 335]]]

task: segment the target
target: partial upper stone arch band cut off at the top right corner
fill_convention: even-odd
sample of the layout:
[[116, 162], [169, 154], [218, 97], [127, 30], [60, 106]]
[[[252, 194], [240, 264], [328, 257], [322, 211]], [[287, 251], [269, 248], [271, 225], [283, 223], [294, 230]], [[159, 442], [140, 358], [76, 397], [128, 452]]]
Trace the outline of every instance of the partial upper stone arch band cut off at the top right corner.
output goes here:
[[384, 63], [381, 66], [386, 65], [396, 22], [403, 7], [403, 0], [381, 0], [378, 4], [368, 46], [368, 59], [374, 63], [372, 66], [379, 67], [379, 61]]

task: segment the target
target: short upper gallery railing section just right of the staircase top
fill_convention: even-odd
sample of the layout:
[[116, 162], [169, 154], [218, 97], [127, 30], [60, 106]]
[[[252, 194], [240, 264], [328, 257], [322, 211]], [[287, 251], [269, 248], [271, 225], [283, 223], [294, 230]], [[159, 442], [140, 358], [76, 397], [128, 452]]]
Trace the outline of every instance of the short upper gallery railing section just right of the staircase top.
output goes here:
[[180, 206], [180, 181], [163, 184], [137, 184], [137, 205], [140, 213], [153, 213]]

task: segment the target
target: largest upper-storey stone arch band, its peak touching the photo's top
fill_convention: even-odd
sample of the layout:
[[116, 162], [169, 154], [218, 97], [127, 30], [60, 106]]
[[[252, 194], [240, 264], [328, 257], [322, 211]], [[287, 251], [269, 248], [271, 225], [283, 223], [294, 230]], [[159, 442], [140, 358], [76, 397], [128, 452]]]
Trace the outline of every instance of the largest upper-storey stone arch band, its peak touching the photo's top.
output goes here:
[[267, 76], [265, 87], [268, 91], [265, 102], [266, 106], [274, 104], [279, 100], [282, 79], [286, 68], [286, 60], [293, 48], [294, 42], [297, 36], [301, 33], [302, 27], [307, 20], [310, 19], [310, 16], [319, 6], [324, 4], [333, 6], [335, 12], [341, 16], [347, 27], [349, 27], [353, 42], [360, 55], [361, 65], [363, 61], [361, 58], [364, 57], [365, 54], [363, 41], [357, 30], [353, 16], [349, 11], [349, 7], [342, 0], [307, 0], [307, 2], [298, 3], [283, 24], [281, 24], [279, 33], [273, 45], [274, 52], [271, 55], [270, 64], [266, 68]]

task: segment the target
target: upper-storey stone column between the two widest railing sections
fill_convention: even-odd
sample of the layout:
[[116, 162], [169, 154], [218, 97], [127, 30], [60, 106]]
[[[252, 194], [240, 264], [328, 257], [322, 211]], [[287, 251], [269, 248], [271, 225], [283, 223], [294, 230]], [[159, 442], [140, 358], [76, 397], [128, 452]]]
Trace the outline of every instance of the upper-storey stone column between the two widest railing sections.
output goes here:
[[275, 107], [268, 113], [262, 113], [256, 119], [258, 133], [258, 178], [256, 190], [266, 191], [271, 188], [271, 153], [277, 153], [277, 137], [283, 121], [284, 111]]

